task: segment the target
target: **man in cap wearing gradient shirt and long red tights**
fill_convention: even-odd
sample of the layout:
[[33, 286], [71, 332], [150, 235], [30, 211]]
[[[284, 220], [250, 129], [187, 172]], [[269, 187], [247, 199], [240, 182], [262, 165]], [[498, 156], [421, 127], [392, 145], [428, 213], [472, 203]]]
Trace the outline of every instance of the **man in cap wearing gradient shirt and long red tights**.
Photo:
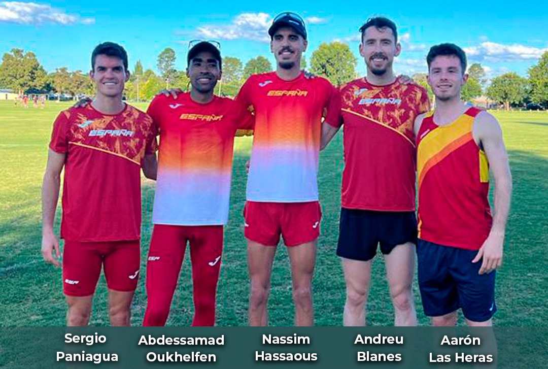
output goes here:
[[213, 94], [221, 78], [218, 47], [191, 43], [187, 63], [190, 92], [175, 99], [158, 95], [147, 110], [160, 145], [144, 326], [165, 324], [187, 242], [195, 305], [192, 325], [214, 325], [233, 141], [237, 128], [253, 128], [253, 116], [245, 107]]

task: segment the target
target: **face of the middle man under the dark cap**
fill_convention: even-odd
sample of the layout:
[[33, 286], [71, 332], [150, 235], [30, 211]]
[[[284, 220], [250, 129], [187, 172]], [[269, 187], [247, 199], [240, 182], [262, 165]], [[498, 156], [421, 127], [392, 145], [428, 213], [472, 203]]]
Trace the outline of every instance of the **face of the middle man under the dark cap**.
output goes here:
[[270, 51], [283, 69], [300, 68], [301, 55], [306, 51], [308, 42], [293, 27], [279, 27], [272, 36]]

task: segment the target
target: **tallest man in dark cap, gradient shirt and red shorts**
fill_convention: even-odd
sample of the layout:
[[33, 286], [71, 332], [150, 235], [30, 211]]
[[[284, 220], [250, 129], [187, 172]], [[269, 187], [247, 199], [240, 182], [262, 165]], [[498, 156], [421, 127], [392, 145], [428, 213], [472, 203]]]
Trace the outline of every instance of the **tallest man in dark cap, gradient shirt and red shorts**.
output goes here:
[[244, 207], [251, 279], [249, 324], [267, 325], [272, 264], [282, 236], [291, 265], [295, 325], [310, 326], [322, 215], [317, 186], [322, 117], [338, 123], [340, 100], [328, 80], [306, 78], [300, 70], [307, 39], [299, 15], [279, 14], [269, 35], [276, 71], [250, 76], [236, 96], [239, 104], [251, 106], [255, 113]]

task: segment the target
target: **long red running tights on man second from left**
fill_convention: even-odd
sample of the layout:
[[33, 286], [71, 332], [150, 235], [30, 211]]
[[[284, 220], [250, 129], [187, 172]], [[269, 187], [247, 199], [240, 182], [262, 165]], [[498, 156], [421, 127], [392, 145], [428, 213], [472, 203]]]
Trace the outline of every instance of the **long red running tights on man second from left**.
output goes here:
[[163, 326], [190, 243], [194, 296], [193, 326], [215, 324], [215, 301], [222, 253], [222, 225], [156, 224], [146, 264], [147, 304], [143, 326]]

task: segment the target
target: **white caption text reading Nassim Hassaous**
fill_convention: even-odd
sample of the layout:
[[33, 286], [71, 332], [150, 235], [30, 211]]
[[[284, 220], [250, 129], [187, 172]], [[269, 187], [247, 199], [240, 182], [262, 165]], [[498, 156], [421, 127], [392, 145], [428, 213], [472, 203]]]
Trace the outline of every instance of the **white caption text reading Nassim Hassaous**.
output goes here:
[[[262, 344], [264, 345], [310, 345], [309, 336], [298, 336], [293, 333], [291, 336], [274, 336], [263, 334]], [[316, 361], [317, 353], [267, 353], [255, 351], [255, 361]]]

